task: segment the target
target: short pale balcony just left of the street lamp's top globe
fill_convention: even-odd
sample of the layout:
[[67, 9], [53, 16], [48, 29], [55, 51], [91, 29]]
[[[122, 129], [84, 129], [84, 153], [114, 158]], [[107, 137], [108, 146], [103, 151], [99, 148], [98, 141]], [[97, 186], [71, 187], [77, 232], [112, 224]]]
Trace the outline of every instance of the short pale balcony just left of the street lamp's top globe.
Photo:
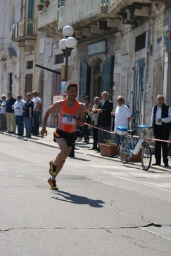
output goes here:
[[48, 7], [38, 12], [38, 31], [44, 32], [46, 37], [56, 37], [58, 31], [58, 7], [61, 1], [53, 1]]

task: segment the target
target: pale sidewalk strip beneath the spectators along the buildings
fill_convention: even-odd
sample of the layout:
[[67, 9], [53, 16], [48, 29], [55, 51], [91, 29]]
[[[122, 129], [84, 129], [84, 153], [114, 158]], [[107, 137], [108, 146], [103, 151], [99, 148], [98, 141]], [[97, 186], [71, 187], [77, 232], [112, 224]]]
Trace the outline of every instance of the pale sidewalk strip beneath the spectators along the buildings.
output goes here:
[[[40, 128], [41, 130], [41, 128]], [[50, 128], [50, 127], [47, 127], [46, 128], [47, 130], [47, 136], [44, 136], [44, 139], [42, 139], [41, 135], [38, 135], [38, 136], [32, 136], [31, 138], [24, 138], [22, 136], [17, 136], [13, 133], [6, 133], [6, 132], [3, 132], [3, 131], [0, 131], [0, 134], [2, 135], [7, 135], [7, 136], [12, 136], [12, 137], [15, 137], [16, 139], [22, 139], [24, 141], [31, 141], [31, 142], [35, 142], [35, 143], [39, 143], [39, 144], [42, 144], [42, 145], [45, 145], [45, 146], [50, 146], [50, 147], [53, 147], [53, 148], [59, 148], [58, 147], [58, 144], [55, 143], [53, 141], [53, 132], [54, 132], [54, 128]], [[76, 141], [76, 149], [75, 149], [75, 157], [77, 157], [77, 155], [81, 154], [81, 155], [91, 155], [93, 157], [101, 157], [101, 158], [106, 158], [108, 160], [111, 160], [113, 162], [120, 162], [120, 159], [118, 158], [113, 158], [113, 157], [102, 157], [101, 154], [95, 150], [88, 150], [89, 148], [92, 148], [92, 144], [93, 144], [93, 139], [92, 137], [90, 136], [90, 141], [88, 144], [84, 143], [84, 142], [77, 142]], [[55, 152], [54, 152], [55, 154]], [[154, 155], [152, 155], [152, 163], [155, 162], [155, 158], [154, 158]], [[112, 162], [111, 162], [112, 163]], [[129, 163], [130, 165], [134, 165], [134, 166], [141, 166], [142, 167], [142, 164], [140, 162], [130, 162]], [[169, 167], [165, 167], [163, 166], [163, 163], [161, 162], [161, 166], [151, 166], [150, 169], [159, 169], [159, 170], [163, 170], [163, 171], [168, 171], [171, 173], [171, 158], [168, 158], [168, 164], [170, 164]]]

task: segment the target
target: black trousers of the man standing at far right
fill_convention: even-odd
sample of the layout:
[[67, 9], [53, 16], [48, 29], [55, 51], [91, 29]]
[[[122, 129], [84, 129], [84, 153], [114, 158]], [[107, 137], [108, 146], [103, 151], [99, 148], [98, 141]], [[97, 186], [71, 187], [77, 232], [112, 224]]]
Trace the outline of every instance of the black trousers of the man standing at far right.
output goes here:
[[[170, 131], [163, 131], [161, 125], [155, 124], [154, 126], [154, 137], [155, 139], [167, 140], [169, 138]], [[163, 163], [168, 163], [168, 147], [167, 142], [155, 141], [155, 158], [158, 164], [161, 163], [161, 148], [163, 153]]]

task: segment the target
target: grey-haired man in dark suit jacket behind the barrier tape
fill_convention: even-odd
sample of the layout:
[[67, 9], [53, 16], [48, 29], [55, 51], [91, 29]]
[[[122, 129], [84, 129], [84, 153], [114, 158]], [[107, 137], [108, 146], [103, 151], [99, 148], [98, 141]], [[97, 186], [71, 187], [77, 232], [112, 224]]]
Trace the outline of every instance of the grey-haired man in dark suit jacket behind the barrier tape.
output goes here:
[[[108, 92], [102, 92], [102, 100], [99, 102], [97, 113], [99, 113], [97, 126], [102, 130], [98, 130], [98, 142], [104, 143], [109, 139], [108, 131], [111, 129], [111, 111], [113, 109], [113, 102], [110, 101]], [[104, 132], [105, 130], [106, 132]]]

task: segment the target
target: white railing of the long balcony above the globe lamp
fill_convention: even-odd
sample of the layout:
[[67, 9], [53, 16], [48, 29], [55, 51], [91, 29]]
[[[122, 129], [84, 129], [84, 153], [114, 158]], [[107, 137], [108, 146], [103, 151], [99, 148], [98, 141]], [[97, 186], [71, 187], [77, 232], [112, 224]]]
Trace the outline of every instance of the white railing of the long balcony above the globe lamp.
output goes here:
[[[95, 15], [102, 14], [102, 6], [108, 3], [106, 13], [110, 13], [110, 0], [76, 0], [59, 10], [58, 29], [61, 30], [66, 25], [73, 26], [81, 21], [89, 20]], [[103, 13], [104, 14], [104, 13]]]

